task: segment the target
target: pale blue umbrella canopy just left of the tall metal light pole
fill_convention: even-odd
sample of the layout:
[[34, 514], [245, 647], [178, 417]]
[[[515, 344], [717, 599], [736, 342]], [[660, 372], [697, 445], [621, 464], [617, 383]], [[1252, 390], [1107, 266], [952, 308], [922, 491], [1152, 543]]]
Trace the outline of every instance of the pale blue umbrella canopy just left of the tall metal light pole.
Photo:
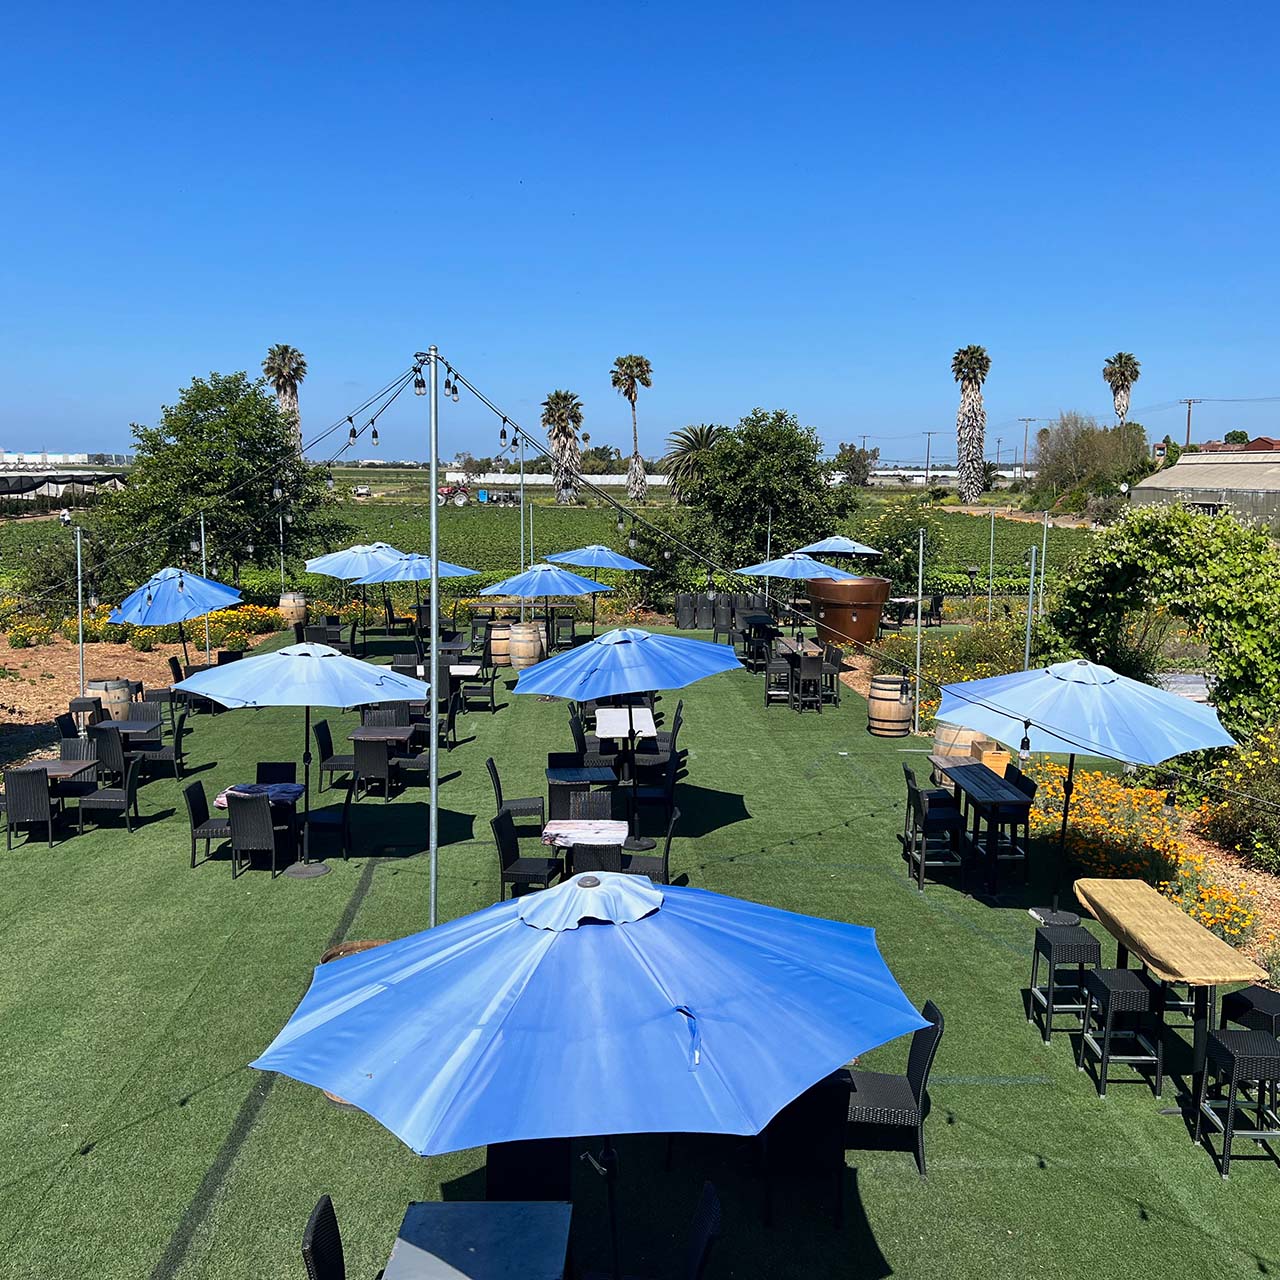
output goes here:
[[224, 707], [362, 707], [419, 701], [431, 686], [390, 667], [351, 658], [326, 644], [292, 644], [225, 667], [209, 667], [174, 685]]

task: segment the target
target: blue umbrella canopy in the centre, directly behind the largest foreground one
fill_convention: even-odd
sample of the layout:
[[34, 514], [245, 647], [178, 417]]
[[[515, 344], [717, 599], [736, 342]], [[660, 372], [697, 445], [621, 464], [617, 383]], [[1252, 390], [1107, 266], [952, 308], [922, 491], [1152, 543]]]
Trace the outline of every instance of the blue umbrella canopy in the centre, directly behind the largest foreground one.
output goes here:
[[730, 645], [622, 627], [526, 667], [516, 681], [516, 692], [582, 703], [650, 689], [684, 689], [695, 680], [739, 667]]

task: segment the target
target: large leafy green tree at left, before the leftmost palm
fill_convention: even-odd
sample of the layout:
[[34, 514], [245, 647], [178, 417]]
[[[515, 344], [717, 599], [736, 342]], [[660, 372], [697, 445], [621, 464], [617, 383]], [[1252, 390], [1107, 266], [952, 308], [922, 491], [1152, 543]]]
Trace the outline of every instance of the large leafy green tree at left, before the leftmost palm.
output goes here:
[[132, 431], [128, 484], [104, 495], [93, 521], [131, 581], [165, 564], [195, 567], [191, 541], [200, 536], [201, 511], [209, 559], [221, 577], [238, 576], [242, 564], [274, 562], [282, 509], [292, 517], [285, 549], [294, 557], [348, 531], [325, 468], [301, 457], [293, 424], [262, 379], [250, 381], [243, 372], [192, 379], [156, 426], [134, 424]]

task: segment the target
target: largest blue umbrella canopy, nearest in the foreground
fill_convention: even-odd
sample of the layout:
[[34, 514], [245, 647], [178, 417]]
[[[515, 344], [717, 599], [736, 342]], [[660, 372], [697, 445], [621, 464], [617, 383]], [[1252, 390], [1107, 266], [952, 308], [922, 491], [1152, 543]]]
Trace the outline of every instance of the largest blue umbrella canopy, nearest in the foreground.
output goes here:
[[873, 929], [602, 872], [321, 965], [252, 1065], [439, 1155], [759, 1133], [922, 1025]]

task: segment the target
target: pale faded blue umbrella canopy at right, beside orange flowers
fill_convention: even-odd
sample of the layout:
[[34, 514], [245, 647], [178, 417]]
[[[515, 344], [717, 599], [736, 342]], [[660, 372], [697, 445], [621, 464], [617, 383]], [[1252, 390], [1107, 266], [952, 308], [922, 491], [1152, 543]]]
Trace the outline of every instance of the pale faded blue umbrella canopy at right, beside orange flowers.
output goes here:
[[1235, 745], [1212, 707], [1084, 659], [943, 685], [937, 718], [1014, 748], [1025, 735], [1032, 751], [1126, 764]]

